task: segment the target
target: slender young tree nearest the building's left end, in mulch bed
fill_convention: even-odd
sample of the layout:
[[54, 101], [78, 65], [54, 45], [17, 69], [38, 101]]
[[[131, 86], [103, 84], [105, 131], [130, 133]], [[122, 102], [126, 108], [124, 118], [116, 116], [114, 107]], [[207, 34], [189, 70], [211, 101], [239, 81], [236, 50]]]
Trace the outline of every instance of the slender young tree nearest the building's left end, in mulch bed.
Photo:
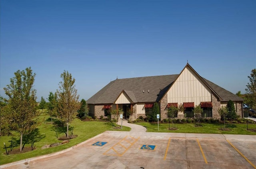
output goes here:
[[63, 81], [59, 83], [57, 93], [57, 118], [62, 124], [67, 125], [66, 137], [68, 138], [68, 123], [76, 118], [78, 110], [78, 98], [75, 79], [68, 71], [64, 71], [60, 77]]

